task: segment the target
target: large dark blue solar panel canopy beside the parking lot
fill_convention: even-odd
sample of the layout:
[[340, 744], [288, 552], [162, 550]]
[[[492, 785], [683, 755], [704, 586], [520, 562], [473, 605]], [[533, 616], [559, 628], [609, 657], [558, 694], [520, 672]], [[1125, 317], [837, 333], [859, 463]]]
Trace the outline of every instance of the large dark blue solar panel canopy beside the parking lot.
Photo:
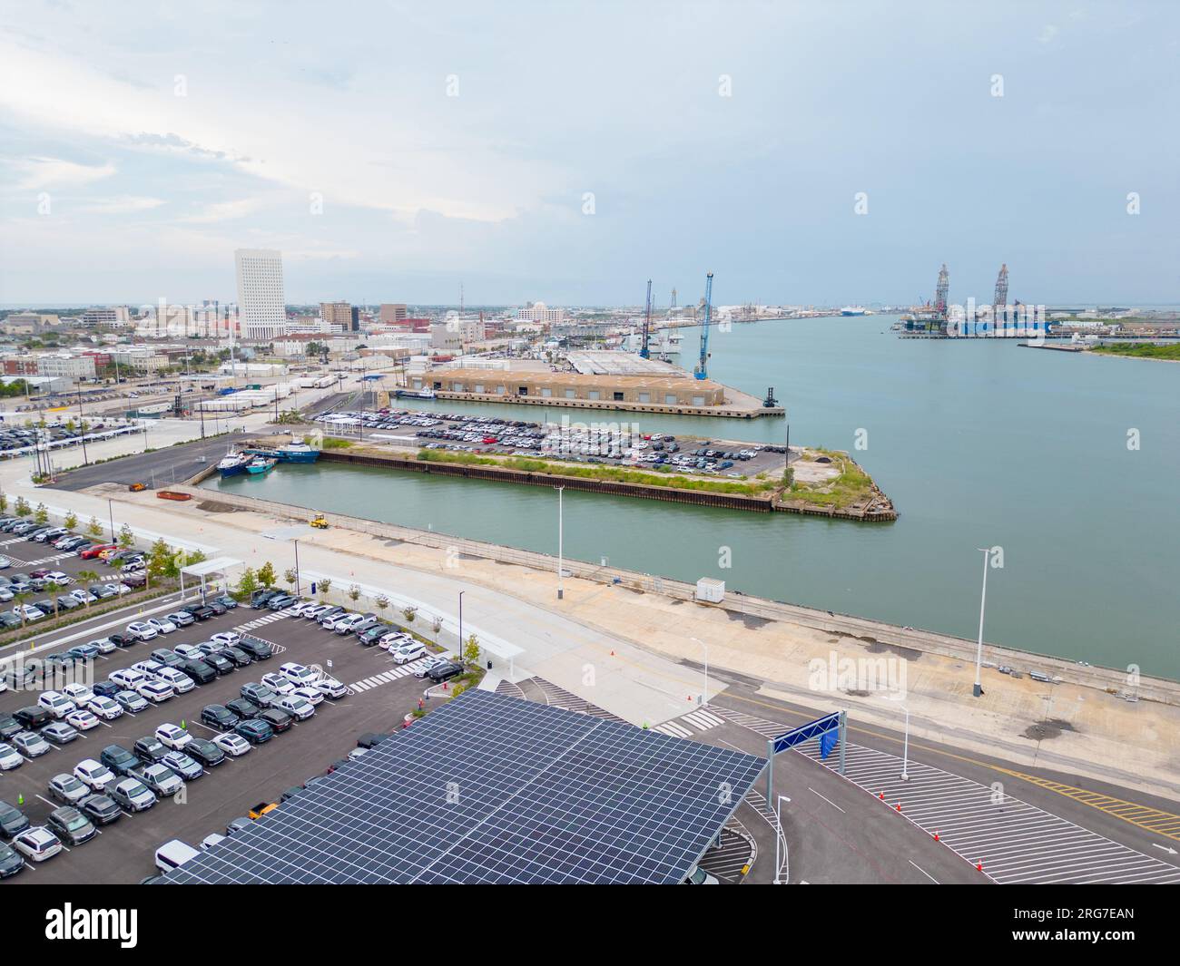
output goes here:
[[763, 764], [471, 690], [164, 881], [680, 882]]

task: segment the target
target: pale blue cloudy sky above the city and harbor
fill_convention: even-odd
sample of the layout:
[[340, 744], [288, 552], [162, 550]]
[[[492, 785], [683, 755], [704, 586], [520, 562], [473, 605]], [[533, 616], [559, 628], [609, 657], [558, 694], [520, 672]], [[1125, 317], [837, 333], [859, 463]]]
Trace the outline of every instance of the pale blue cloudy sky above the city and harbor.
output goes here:
[[1180, 4], [0, 0], [0, 304], [1180, 302]]

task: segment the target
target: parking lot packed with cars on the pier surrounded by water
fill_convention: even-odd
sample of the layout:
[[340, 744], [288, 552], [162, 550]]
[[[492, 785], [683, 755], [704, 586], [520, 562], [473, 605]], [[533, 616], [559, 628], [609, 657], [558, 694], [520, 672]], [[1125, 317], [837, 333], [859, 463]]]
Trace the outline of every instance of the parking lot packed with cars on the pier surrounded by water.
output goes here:
[[324, 432], [373, 443], [489, 455], [535, 456], [607, 466], [642, 466], [693, 475], [748, 479], [781, 472], [785, 446], [638, 433], [627, 422], [540, 423], [414, 409], [330, 412]]

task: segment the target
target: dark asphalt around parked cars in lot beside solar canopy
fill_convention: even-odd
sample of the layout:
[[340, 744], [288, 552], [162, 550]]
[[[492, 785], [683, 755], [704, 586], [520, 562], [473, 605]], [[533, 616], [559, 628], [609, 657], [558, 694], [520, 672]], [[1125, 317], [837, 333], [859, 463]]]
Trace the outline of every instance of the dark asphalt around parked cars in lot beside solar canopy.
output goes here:
[[[136, 615], [126, 617], [130, 622]], [[211, 833], [225, 834], [228, 823], [245, 816], [255, 804], [277, 802], [286, 789], [322, 775], [333, 762], [355, 749], [359, 735], [400, 727], [426, 690], [426, 684], [407, 670], [412, 665], [394, 664], [386, 651], [362, 648], [352, 635], [337, 636], [315, 622], [247, 605], [101, 656], [93, 662], [93, 679], [104, 679], [112, 671], [148, 659], [155, 648], [196, 644], [231, 629], [267, 640], [275, 648], [274, 657], [236, 669], [138, 714], [100, 722], [68, 744], [55, 745], [48, 754], [0, 773], [0, 801], [19, 807], [34, 826], [40, 824], [59, 806], [50, 799], [48, 782], [53, 776], [71, 773], [85, 758], [98, 758], [105, 745], [122, 744], [130, 749], [138, 738], [153, 735], [164, 723], [183, 723], [194, 737], [211, 740], [217, 732], [199, 723], [201, 709], [238, 697], [242, 685], [277, 671], [284, 662], [320, 665], [346, 685], [358, 686], [349, 686], [342, 698], [324, 698], [312, 718], [293, 724], [266, 744], [205, 769], [189, 782], [183, 802], [165, 799], [148, 811], [125, 813], [100, 827], [100, 834], [91, 841], [71, 846], [41, 865], [26, 863], [22, 872], [4, 881], [137, 882], [155, 872], [155, 850], [164, 842], [181, 839], [196, 846]], [[35, 704], [37, 697], [38, 692], [5, 691], [0, 694], [0, 714], [11, 715]]]

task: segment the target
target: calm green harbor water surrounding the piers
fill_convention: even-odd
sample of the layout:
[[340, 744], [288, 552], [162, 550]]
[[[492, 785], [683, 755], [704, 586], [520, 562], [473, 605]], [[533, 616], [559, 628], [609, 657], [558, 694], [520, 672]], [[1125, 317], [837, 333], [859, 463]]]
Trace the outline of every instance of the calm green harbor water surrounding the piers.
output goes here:
[[[900, 512], [863, 525], [565, 493], [565, 552], [796, 604], [974, 638], [982, 557], [989, 640], [1180, 677], [1180, 366], [1002, 342], [899, 340], [890, 316], [713, 333], [710, 375], [775, 387], [793, 442], [854, 451]], [[683, 329], [690, 364], [699, 333]], [[407, 402], [537, 420], [536, 407]], [[550, 407], [551, 419], [584, 410]], [[603, 413], [643, 429], [781, 441], [781, 419]], [[1139, 449], [1128, 449], [1128, 431]], [[539, 487], [340, 466], [210, 486], [555, 553]], [[728, 569], [719, 566], [729, 548]]]

